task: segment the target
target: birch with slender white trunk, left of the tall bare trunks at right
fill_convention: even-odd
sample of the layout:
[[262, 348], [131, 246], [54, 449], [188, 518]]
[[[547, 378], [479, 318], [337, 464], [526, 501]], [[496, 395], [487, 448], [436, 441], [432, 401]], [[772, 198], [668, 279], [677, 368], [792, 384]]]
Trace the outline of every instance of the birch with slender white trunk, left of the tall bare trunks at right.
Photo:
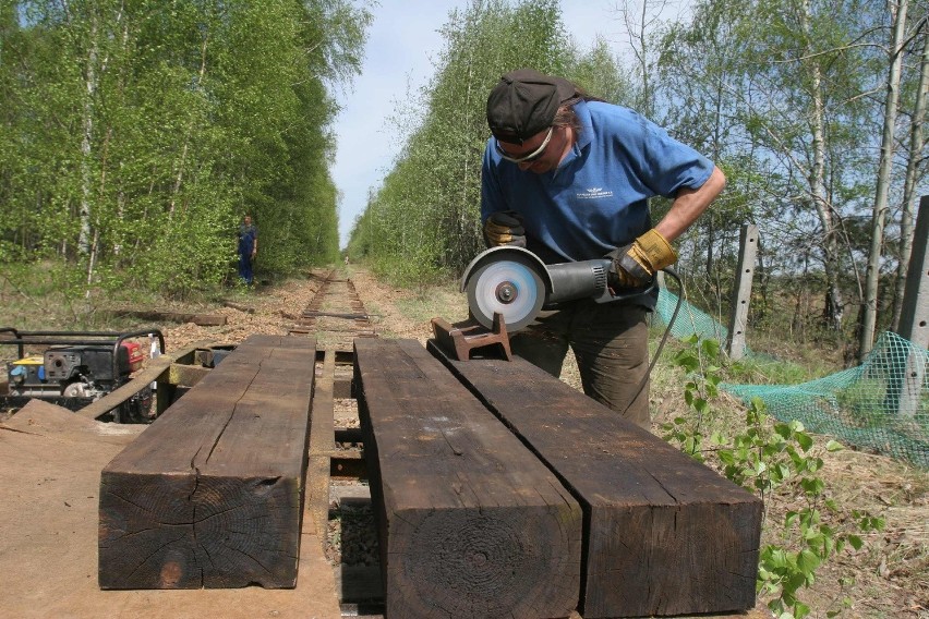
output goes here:
[[[775, 0], [745, 11], [739, 35], [744, 84], [733, 93], [755, 157], [780, 178], [777, 201], [796, 214], [783, 224], [819, 253], [825, 278], [823, 324], [840, 331], [843, 278], [855, 272], [845, 217], [860, 207], [869, 162], [869, 109], [874, 58], [852, 45], [872, 23], [871, 5], [857, 0]], [[795, 255], [799, 263], [803, 253]]]

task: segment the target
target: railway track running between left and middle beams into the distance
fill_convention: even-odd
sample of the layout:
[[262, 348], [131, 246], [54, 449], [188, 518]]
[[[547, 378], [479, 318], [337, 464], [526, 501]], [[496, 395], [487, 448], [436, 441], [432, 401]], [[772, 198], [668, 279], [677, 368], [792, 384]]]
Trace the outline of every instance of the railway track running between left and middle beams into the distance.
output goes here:
[[289, 329], [316, 338], [306, 512], [333, 566], [343, 617], [383, 617], [377, 532], [352, 397], [355, 338], [377, 337], [354, 283], [337, 269], [314, 274], [316, 294]]

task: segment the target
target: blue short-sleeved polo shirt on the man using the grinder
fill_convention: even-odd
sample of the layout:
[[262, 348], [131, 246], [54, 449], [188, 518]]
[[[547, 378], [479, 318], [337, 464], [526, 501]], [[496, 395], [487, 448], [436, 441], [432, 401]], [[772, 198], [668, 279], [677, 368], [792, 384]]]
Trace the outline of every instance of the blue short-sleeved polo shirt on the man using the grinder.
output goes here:
[[546, 264], [600, 258], [631, 243], [652, 227], [650, 197], [699, 189], [714, 168], [634, 110], [601, 101], [574, 108], [581, 130], [554, 171], [521, 171], [500, 158], [493, 137], [484, 150], [481, 221], [519, 213], [527, 248]]

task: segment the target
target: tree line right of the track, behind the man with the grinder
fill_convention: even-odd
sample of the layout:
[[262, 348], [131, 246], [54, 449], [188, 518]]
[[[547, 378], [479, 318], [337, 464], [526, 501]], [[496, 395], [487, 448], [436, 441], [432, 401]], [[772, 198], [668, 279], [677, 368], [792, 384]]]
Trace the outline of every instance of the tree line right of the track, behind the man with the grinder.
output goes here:
[[[673, 19], [665, 5], [616, 7], [604, 27], [625, 57], [616, 41], [572, 40], [557, 0], [453, 11], [434, 78], [396, 111], [403, 148], [350, 253], [409, 280], [462, 270], [483, 248], [486, 95], [503, 73], [531, 66], [638, 109], [724, 170], [726, 191], [680, 242], [691, 296], [725, 311], [739, 230], [755, 223], [752, 319], [812, 320], [864, 355], [874, 330], [900, 318], [914, 208], [929, 192], [929, 4], [698, 0]], [[794, 316], [774, 311], [785, 302]]]

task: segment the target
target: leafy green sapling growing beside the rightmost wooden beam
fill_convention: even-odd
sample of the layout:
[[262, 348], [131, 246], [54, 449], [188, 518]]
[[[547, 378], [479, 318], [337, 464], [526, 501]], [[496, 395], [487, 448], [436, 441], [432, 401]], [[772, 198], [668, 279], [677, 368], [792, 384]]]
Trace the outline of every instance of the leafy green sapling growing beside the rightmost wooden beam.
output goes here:
[[[720, 347], [697, 336], [688, 344], [674, 364], [687, 376], [684, 400], [692, 414], [665, 424], [664, 438], [701, 462], [712, 454], [728, 480], [761, 497], [765, 519], [784, 513], [777, 539], [759, 554], [758, 591], [780, 619], [803, 619], [810, 608], [800, 593], [816, 582], [817, 571], [837, 553], [861, 549], [861, 533], [882, 530], [884, 521], [858, 510], [843, 512], [819, 474], [824, 462], [813, 437], [798, 421], [772, 423], [761, 400], [752, 400], [743, 427], [712, 427], [711, 402], [722, 371]], [[830, 440], [824, 449], [834, 452], [842, 446]], [[779, 502], [792, 507], [776, 509]]]

